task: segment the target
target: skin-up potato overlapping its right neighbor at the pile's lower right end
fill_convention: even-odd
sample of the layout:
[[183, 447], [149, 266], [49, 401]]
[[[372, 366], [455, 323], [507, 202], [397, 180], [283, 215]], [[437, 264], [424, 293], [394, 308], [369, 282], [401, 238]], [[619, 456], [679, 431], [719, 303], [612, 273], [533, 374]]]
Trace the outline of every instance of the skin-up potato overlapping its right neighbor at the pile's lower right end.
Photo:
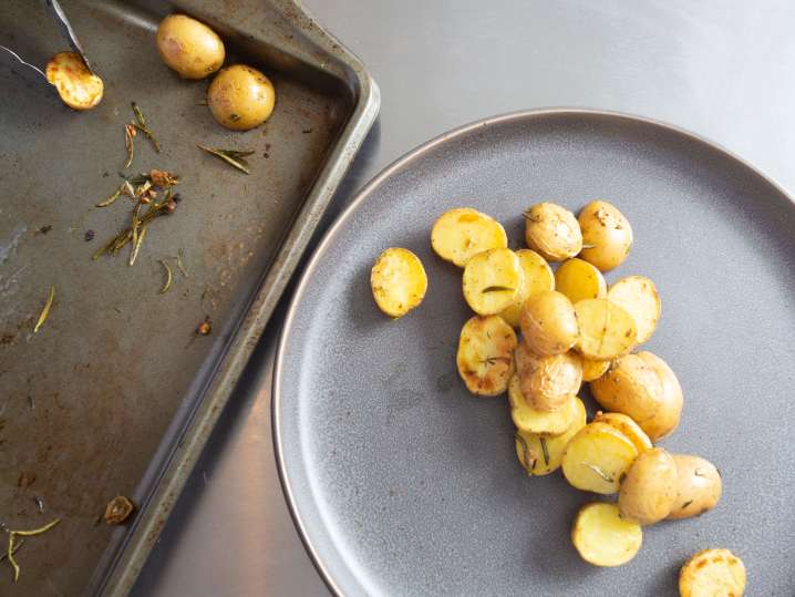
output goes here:
[[640, 525], [659, 523], [677, 500], [677, 464], [662, 447], [641, 452], [618, 492], [621, 517]]

